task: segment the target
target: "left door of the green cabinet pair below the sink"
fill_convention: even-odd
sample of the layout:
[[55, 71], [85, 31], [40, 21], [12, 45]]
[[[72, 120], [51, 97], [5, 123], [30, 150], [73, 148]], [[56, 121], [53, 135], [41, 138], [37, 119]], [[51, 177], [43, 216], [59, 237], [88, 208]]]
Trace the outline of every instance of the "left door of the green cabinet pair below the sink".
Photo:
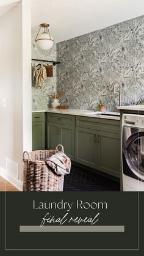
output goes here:
[[76, 127], [75, 161], [92, 168], [97, 167], [97, 132]]

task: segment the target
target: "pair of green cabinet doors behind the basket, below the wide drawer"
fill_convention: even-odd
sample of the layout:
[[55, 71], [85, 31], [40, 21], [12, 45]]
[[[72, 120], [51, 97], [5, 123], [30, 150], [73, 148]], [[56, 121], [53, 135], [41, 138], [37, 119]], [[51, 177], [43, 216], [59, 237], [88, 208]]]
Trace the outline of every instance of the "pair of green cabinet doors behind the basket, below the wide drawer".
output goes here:
[[55, 149], [62, 144], [66, 155], [74, 160], [74, 126], [48, 122], [46, 134], [47, 148]]

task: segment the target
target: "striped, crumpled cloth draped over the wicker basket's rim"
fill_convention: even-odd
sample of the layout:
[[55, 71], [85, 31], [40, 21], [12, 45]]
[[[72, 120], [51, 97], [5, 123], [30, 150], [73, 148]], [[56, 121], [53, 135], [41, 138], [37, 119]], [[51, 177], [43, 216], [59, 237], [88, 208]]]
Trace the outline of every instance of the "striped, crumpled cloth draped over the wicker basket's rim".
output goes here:
[[46, 164], [51, 167], [57, 175], [70, 174], [71, 160], [63, 152], [57, 152], [45, 159]]

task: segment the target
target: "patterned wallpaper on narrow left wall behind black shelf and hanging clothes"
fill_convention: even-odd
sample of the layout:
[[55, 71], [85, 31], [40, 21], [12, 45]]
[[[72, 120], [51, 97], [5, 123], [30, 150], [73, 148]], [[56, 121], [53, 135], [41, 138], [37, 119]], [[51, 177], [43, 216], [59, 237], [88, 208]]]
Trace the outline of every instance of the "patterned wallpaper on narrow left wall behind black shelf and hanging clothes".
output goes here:
[[[46, 59], [46, 60], [57, 60], [56, 43], [48, 51], [43, 51], [37, 47], [35, 36], [37, 31], [32, 31], [32, 59]], [[53, 77], [45, 80], [44, 87], [36, 87], [35, 80], [33, 79], [34, 66], [39, 63], [47, 65], [48, 62], [35, 62], [32, 61], [32, 110], [47, 109], [51, 103], [50, 95], [56, 93], [57, 90], [57, 71], [56, 66], [53, 68]], [[51, 65], [49, 63], [48, 65]]]

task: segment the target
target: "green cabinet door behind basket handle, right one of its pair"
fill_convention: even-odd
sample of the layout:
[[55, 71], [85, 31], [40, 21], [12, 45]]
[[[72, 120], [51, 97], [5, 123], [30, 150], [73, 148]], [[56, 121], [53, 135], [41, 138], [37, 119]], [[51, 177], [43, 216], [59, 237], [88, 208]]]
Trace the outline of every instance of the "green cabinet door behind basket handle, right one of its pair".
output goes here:
[[60, 144], [63, 145], [65, 154], [74, 161], [74, 126], [60, 125], [61, 139]]

